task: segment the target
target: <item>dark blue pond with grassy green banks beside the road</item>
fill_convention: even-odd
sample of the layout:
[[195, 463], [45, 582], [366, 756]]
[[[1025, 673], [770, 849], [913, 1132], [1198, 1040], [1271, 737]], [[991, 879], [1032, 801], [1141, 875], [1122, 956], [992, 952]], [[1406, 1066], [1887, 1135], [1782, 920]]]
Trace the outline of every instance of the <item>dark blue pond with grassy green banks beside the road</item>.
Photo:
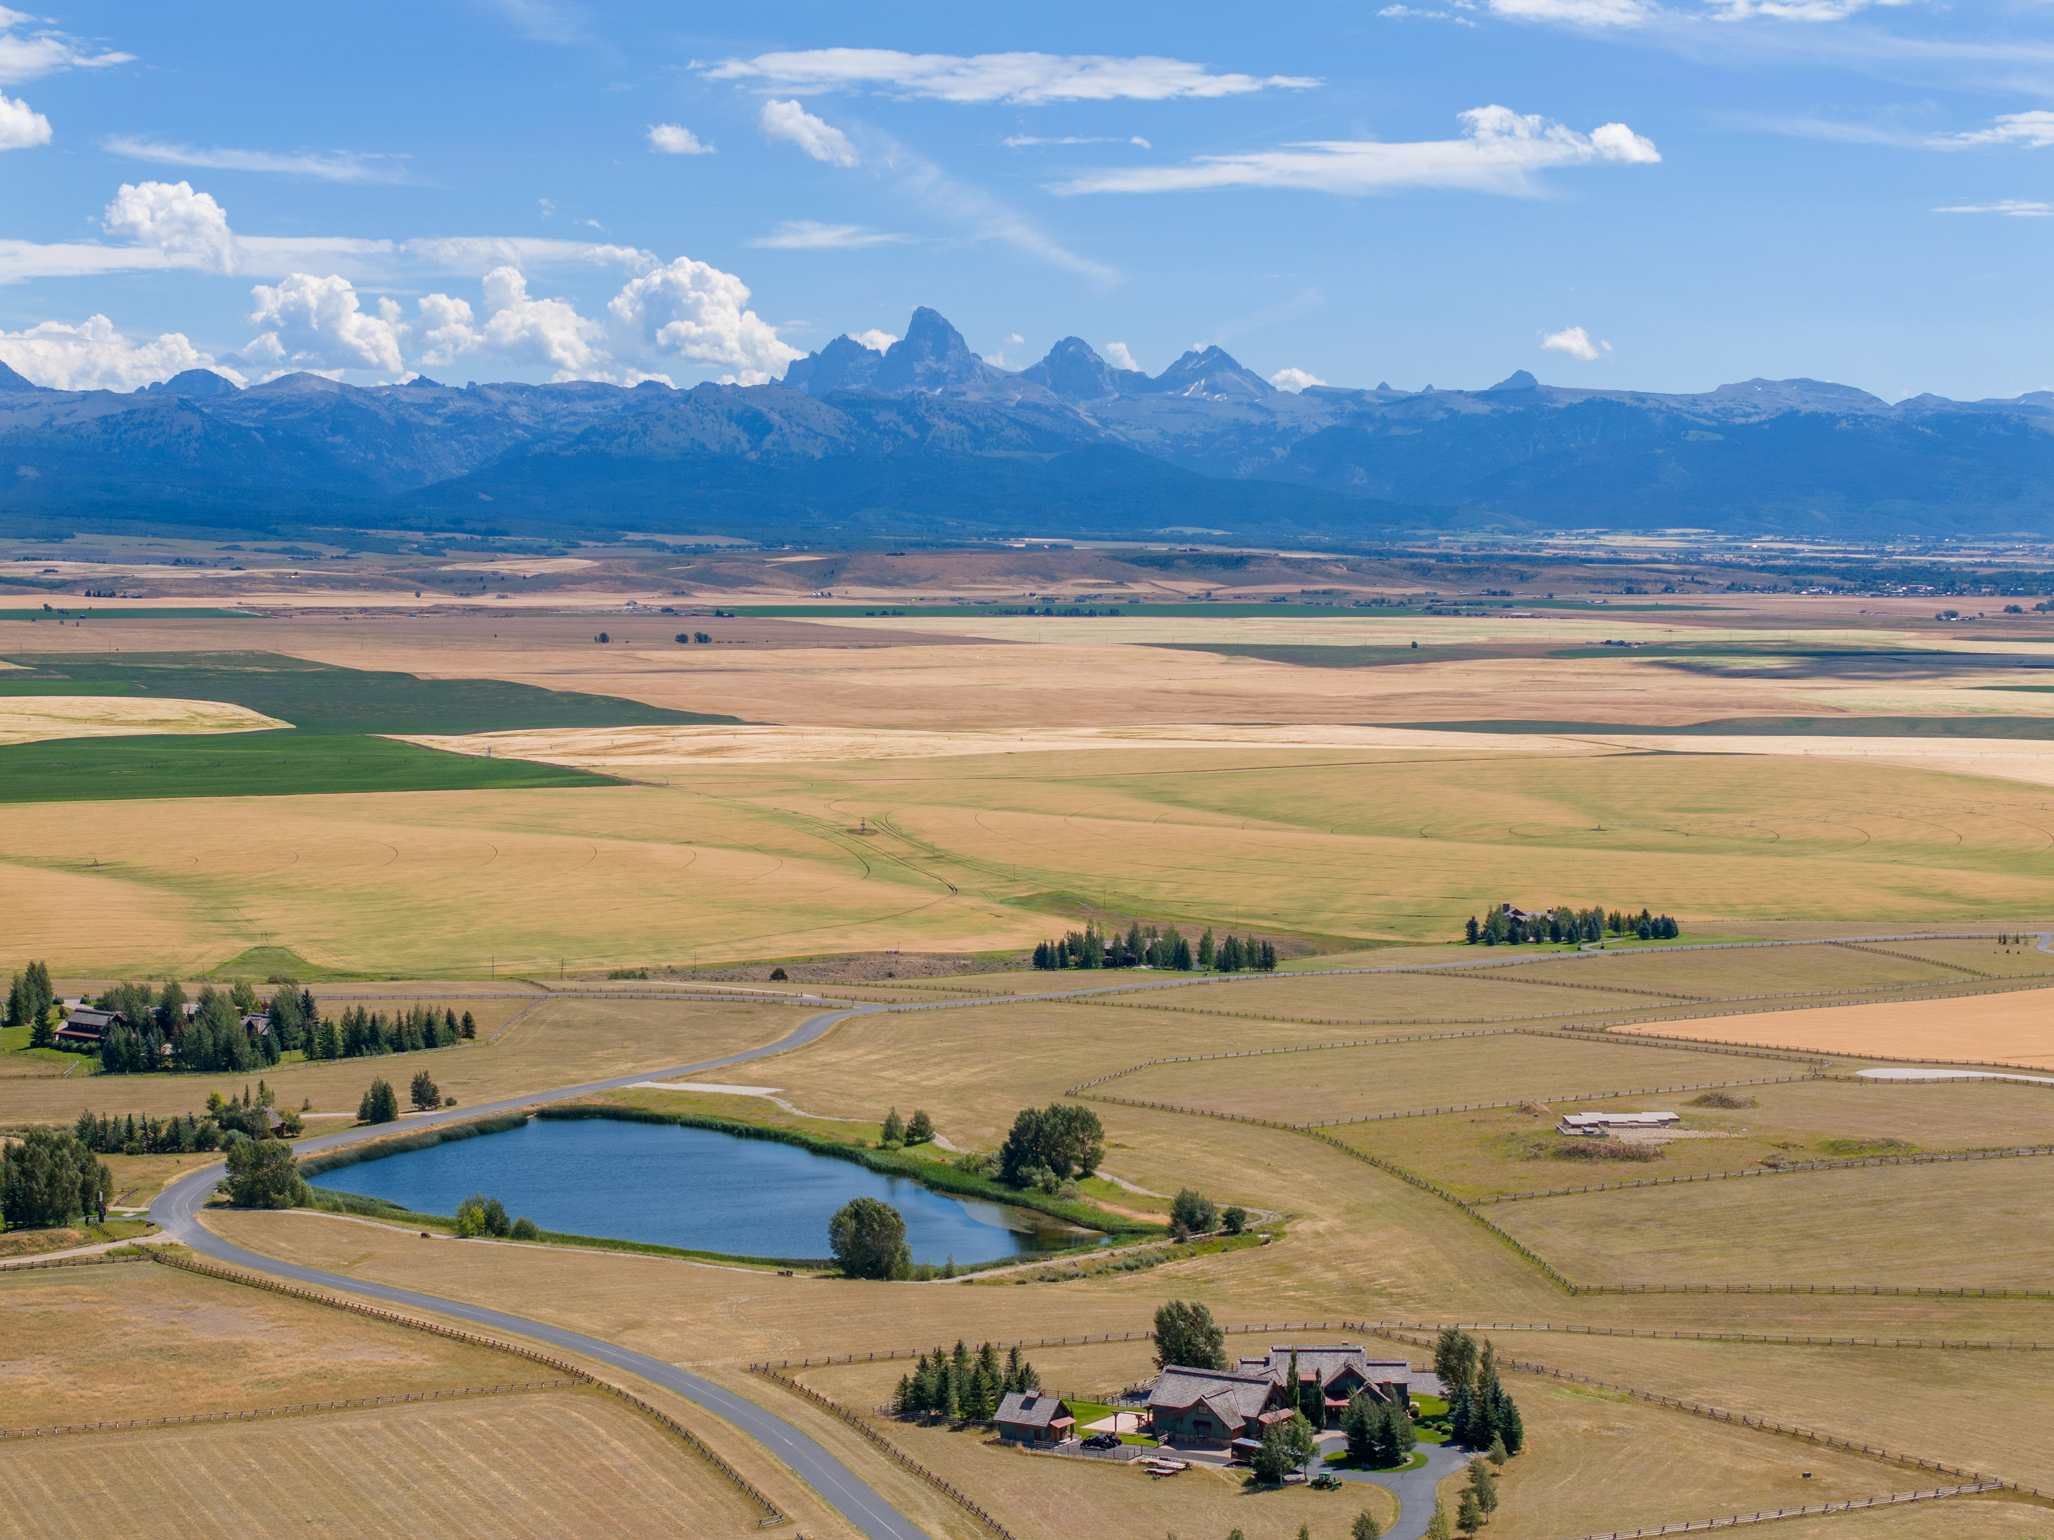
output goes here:
[[409, 1150], [314, 1177], [339, 1193], [417, 1214], [456, 1214], [472, 1193], [544, 1230], [645, 1240], [729, 1257], [826, 1257], [828, 1218], [852, 1197], [906, 1216], [916, 1263], [988, 1263], [1099, 1244], [1031, 1209], [935, 1193], [770, 1140], [612, 1119], [530, 1119], [526, 1127]]

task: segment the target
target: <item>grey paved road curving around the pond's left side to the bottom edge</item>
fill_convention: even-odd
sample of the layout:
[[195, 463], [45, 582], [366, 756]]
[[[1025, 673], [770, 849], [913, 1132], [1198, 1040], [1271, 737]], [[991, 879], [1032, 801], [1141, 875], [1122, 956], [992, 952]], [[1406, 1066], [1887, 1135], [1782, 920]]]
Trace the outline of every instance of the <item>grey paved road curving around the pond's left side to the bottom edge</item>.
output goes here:
[[[764, 1047], [748, 1049], [746, 1053], [729, 1053], [719, 1060], [705, 1060], [700, 1064], [684, 1064], [676, 1070], [665, 1070], [663, 1074], [692, 1074], [696, 1070], [719, 1070], [727, 1064], [741, 1064], [746, 1060], [760, 1060], [770, 1053], [785, 1053], [793, 1047], [811, 1043], [824, 1031], [834, 1027], [834, 1023], [844, 1016], [859, 1014], [857, 1010], [826, 1010], [817, 1016], [807, 1016], [795, 1033], [781, 1037], [776, 1043], [766, 1043]], [[616, 1080], [594, 1080], [583, 1086], [567, 1086], [563, 1090], [542, 1092], [538, 1096], [516, 1096], [511, 1101], [487, 1103], [485, 1107], [464, 1107], [458, 1113], [431, 1113], [427, 1117], [411, 1119], [413, 1123], [440, 1123], [458, 1117], [479, 1117], [481, 1113], [511, 1111], [516, 1107], [534, 1107], [542, 1101], [561, 1101], [565, 1096], [581, 1096], [589, 1090], [610, 1090], [624, 1086], [633, 1080], [649, 1080], [649, 1072], [637, 1072], [631, 1076], [620, 1076]], [[372, 1138], [378, 1133], [390, 1133], [390, 1125], [378, 1125], [370, 1129], [351, 1129], [347, 1133], [329, 1133], [318, 1140], [302, 1140], [298, 1150], [327, 1150], [339, 1144], [351, 1144], [355, 1140]], [[405, 1306], [411, 1310], [433, 1310], [444, 1316], [456, 1316], [468, 1320], [487, 1331], [514, 1333], [518, 1337], [532, 1337], [536, 1341], [550, 1343], [553, 1347], [567, 1349], [571, 1353], [583, 1353], [602, 1363], [612, 1363], [618, 1370], [637, 1374], [651, 1384], [659, 1384], [686, 1400], [705, 1407], [717, 1417], [727, 1419], [744, 1433], [754, 1437], [787, 1466], [791, 1466], [807, 1487], [811, 1487], [820, 1497], [824, 1497], [842, 1517], [846, 1517], [857, 1530], [871, 1536], [871, 1540], [926, 1540], [926, 1532], [920, 1530], [912, 1519], [900, 1513], [891, 1503], [871, 1491], [857, 1472], [836, 1460], [828, 1450], [809, 1439], [797, 1427], [776, 1417], [754, 1400], [737, 1396], [733, 1390], [713, 1384], [713, 1380], [702, 1380], [696, 1374], [686, 1374], [676, 1363], [665, 1363], [663, 1359], [649, 1357], [647, 1353], [635, 1353], [626, 1347], [616, 1347], [614, 1343], [602, 1343], [598, 1337], [585, 1337], [583, 1333], [565, 1331], [563, 1326], [550, 1326], [542, 1320], [526, 1320], [524, 1316], [509, 1316], [499, 1310], [485, 1310], [474, 1304], [464, 1304], [460, 1300], [442, 1300], [433, 1294], [417, 1294], [413, 1289], [396, 1289], [386, 1283], [370, 1283], [359, 1277], [341, 1277], [337, 1273], [322, 1273], [312, 1267], [296, 1267], [292, 1263], [281, 1263], [275, 1257], [261, 1257], [242, 1246], [232, 1246], [230, 1242], [216, 1236], [199, 1222], [199, 1205], [207, 1201], [214, 1191], [216, 1181], [220, 1181], [220, 1166], [205, 1166], [193, 1175], [166, 1187], [156, 1203], [150, 1205], [150, 1218], [173, 1236], [183, 1240], [197, 1253], [214, 1257], [218, 1261], [230, 1263], [232, 1267], [242, 1267], [253, 1273], [269, 1273], [271, 1277], [292, 1279], [294, 1283], [310, 1283], [314, 1287], [339, 1289], [343, 1294], [368, 1294], [374, 1300], [384, 1300], [386, 1304]]]

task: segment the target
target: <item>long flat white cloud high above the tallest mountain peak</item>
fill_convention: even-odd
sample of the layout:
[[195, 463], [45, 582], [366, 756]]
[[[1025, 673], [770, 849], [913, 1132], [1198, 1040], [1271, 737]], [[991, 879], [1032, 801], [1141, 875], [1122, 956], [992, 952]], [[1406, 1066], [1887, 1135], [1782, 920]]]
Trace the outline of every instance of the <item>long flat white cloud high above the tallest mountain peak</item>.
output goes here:
[[1107, 53], [900, 53], [883, 47], [815, 47], [705, 66], [709, 80], [768, 90], [883, 90], [953, 103], [1173, 101], [1308, 90], [1310, 76], [1212, 74], [1204, 64]]

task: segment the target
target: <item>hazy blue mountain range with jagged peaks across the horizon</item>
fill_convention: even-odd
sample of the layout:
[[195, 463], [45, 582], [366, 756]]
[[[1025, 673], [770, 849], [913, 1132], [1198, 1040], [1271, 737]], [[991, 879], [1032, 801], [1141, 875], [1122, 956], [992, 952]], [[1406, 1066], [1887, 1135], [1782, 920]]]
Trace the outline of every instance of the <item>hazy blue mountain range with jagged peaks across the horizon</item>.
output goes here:
[[762, 386], [238, 390], [191, 370], [47, 390], [0, 363], [0, 528], [322, 528], [762, 540], [1705, 528], [2054, 530], [2054, 392], [1886, 402], [1818, 380], [1701, 394], [1278, 390], [1218, 347], [1156, 376], [1076, 337], [1011, 372], [933, 310]]

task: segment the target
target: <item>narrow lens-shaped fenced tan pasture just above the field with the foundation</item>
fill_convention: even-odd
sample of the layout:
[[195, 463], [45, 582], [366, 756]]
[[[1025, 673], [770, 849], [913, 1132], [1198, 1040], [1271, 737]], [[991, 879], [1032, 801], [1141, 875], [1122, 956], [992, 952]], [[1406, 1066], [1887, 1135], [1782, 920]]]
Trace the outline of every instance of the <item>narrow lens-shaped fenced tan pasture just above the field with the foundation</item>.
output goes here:
[[1200, 1107], [1282, 1123], [1323, 1123], [1421, 1107], [1499, 1101], [1573, 1101], [1606, 1090], [1768, 1080], [1801, 1064], [1721, 1053], [1621, 1053], [1604, 1041], [1493, 1033], [1421, 1043], [1378, 1043], [1317, 1053], [1161, 1064], [1093, 1094]]

